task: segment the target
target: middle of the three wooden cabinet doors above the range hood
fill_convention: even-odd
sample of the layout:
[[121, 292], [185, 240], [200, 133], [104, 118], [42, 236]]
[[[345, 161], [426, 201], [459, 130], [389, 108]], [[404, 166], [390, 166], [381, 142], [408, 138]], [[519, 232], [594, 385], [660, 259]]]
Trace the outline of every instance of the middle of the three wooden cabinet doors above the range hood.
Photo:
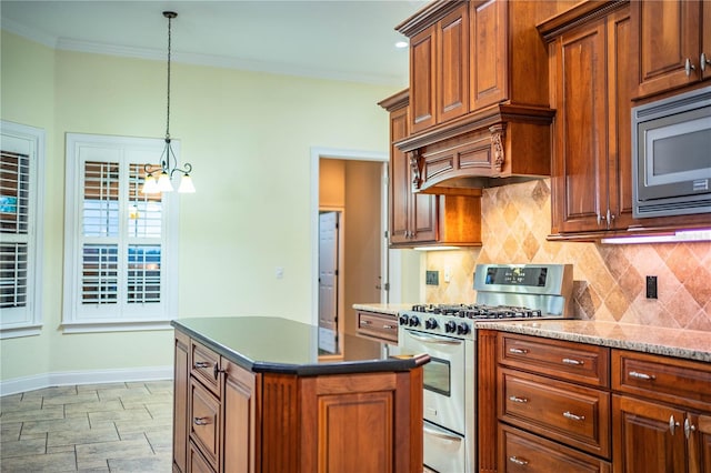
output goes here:
[[469, 6], [437, 23], [437, 122], [469, 111]]

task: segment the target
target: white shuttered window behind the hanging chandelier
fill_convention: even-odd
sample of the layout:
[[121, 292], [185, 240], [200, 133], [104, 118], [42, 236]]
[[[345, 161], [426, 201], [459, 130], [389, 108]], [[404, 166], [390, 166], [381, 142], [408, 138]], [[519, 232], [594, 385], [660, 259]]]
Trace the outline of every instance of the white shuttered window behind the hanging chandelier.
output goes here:
[[67, 135], [66, 332], [169, 328], [174, 318], [178, 202], [141, 192], [144, 163], [164, 144]]

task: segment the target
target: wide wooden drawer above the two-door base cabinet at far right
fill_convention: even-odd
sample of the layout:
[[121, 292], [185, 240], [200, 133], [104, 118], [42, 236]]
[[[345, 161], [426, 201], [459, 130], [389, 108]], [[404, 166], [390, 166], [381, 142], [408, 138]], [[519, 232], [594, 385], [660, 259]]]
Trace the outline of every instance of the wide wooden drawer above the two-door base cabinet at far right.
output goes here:
[[709, 412], [711, 364], [613, 350], [612, 389]]

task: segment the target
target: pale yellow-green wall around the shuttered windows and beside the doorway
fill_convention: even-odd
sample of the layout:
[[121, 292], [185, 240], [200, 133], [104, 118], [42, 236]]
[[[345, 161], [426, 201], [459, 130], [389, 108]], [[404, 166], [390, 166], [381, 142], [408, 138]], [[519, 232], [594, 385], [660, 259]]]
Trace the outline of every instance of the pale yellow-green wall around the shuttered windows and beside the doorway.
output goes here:
[[[171, 331], [61, 332], [64, 134], [162, 138], [164, 63], [51, 50], [2, 32], [3, 120], [47, 131], [39, 336], [1, 342], [0, 380], [172, 363]], [[375, 103], [400, 88], [173, 63], [171, 135], [192, 163], [180, 197], [180, 318], [310, 321], [310, 149], [388, 150]], [[274, 269], [284, 269], [277, 280]]]

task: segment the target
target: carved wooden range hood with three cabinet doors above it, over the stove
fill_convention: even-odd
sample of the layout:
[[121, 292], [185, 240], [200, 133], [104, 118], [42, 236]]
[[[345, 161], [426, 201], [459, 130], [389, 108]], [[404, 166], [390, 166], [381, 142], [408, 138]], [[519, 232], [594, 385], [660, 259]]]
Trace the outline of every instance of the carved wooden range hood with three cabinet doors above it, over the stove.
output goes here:
[[435, 0], [395, 27], [410, 39], [411, 133], [394, 145], [411, 165], [413, 192], [550, 177], [555, 110], [535, 24], [557, 8]]

